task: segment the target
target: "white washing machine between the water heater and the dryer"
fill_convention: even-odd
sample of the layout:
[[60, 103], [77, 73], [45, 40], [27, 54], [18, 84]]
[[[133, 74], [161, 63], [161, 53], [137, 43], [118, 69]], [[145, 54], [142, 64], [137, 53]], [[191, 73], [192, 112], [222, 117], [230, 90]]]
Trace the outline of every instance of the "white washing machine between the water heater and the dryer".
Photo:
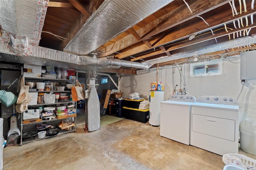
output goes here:
[[172, 95], [161, 102], [160, 135], [183, 144], [190, 144], [190, 105], [196, 98], [188, 95]]

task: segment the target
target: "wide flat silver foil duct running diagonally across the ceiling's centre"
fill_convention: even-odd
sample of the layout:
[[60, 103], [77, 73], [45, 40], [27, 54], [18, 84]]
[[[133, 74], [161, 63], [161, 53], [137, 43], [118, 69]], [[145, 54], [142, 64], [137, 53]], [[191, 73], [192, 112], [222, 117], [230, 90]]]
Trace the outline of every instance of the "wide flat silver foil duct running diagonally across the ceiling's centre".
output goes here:
[[86, 55], [173, 0], [105, 0], [64, 51]]

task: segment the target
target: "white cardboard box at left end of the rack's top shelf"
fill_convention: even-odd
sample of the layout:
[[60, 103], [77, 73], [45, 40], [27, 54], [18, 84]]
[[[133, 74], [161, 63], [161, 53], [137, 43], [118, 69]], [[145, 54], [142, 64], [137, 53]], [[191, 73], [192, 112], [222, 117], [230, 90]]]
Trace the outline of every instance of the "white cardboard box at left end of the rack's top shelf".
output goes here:
[[41, 65], [24, 64], [24, 68], [23, 68], [24, 77], [38, 78], [38, 77], [41, 77], [41, 72], [42, 72]]

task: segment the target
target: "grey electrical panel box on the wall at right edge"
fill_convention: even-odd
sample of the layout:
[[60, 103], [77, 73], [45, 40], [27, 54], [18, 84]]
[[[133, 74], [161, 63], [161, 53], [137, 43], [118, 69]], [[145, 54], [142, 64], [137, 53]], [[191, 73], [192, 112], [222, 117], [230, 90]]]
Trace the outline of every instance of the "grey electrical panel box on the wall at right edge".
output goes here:
[[256, 79], [256, 51], [241, 53], [240, 80]]

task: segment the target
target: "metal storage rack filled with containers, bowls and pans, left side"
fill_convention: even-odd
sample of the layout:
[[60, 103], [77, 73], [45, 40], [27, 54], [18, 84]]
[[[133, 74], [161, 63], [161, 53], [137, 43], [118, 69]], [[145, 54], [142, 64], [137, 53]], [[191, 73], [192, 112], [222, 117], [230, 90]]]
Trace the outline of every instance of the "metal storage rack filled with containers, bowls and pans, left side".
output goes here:
[[[21, 113], [20, 145], [76, 132], [76, 102], [72, 101], [71, 96], [71, 87], [75, 85], [76, 76], [68, 76], [67, 71], [62, 73], [61, 70], [24, 64], [22, 75], [25, 84], [30, 86], [32, 101], [28, 103], [28, 111]], [[36, 133], [42, 130], [46, 132]]]

